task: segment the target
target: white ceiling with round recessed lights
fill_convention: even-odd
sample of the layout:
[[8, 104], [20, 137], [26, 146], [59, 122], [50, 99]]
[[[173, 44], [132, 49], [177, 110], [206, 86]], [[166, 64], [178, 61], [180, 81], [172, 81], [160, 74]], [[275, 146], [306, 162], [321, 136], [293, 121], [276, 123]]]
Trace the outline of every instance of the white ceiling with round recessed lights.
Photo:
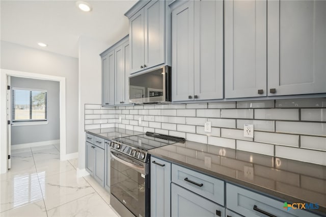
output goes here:
[[1, 0], [1, 40], [78, 58], [79, 36], [112, 45], [128, 34], [124, 13], [137, 0], [85, 2], [91, 12], [80, 11], [76, 1]]

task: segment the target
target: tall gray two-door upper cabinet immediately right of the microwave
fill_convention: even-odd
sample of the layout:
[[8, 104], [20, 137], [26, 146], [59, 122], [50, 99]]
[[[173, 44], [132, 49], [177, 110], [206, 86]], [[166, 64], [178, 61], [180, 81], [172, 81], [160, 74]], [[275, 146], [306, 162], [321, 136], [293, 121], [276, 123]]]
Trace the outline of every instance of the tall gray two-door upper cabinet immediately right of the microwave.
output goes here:
[[223, 2], [177, 1], [172, 9], [172, 100], [223, 98]]

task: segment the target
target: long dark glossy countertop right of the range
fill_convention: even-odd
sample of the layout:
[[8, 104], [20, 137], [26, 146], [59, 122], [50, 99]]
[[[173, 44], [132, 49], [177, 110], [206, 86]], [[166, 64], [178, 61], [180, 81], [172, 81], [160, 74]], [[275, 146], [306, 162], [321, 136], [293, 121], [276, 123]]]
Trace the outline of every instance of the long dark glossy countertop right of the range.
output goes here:
[[326, 214], [326, 166], [189, 141], [149, 153], [284, 202], [317, 203], [311, 211]]

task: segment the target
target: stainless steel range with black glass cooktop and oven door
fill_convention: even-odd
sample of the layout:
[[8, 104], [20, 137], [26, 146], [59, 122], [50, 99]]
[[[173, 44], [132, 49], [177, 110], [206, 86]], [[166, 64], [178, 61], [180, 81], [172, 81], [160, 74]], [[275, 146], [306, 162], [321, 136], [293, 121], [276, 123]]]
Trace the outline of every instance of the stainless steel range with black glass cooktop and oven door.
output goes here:
[[110, 203], [121, 216], [149, 216], [150, 155], [147, 151], [183, 141], [180, 137], [146, 132], [111, 142]]

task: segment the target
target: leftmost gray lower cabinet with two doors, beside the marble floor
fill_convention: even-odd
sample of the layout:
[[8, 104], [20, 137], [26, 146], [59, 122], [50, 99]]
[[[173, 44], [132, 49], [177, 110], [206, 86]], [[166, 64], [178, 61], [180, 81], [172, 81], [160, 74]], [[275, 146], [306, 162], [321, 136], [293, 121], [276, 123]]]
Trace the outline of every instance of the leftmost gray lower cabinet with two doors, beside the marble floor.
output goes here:
[[[86, 138], [91, 137], [86, 133]], [[94, 137], [92, 135], [92, 137]], [[94, 143], [86, 142], [85, 169], [102, 186], [104, 186], [104, 140], [94, 137]]]

